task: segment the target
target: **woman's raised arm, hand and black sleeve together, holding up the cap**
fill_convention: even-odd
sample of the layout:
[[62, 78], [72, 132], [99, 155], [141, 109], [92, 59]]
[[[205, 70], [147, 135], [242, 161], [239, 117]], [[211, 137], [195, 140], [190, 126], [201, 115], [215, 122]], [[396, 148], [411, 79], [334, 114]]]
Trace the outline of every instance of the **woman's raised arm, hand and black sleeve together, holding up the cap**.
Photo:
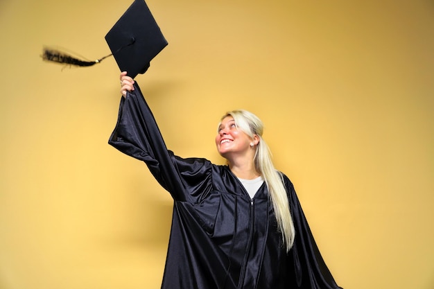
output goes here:
[[116, 128], [110, 136], [110, 145], [126, 155], [145, 161], [157, 181], [175, 200], [185, 200], [188, 196], [178, 168], [185, 161], [167, 150], [137, 82], [126, 73], [121, 73], [120, 79], [123, 98]]

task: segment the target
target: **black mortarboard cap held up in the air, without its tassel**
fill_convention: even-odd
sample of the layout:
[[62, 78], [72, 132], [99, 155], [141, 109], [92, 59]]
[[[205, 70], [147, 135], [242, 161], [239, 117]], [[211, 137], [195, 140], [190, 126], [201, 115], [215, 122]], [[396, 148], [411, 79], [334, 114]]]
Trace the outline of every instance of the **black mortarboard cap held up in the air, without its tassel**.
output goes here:
[[134, 0], [105, 41], [119, 69], [132, 78], [145, 73], [150, 60], [168, 44], [144, 0]]

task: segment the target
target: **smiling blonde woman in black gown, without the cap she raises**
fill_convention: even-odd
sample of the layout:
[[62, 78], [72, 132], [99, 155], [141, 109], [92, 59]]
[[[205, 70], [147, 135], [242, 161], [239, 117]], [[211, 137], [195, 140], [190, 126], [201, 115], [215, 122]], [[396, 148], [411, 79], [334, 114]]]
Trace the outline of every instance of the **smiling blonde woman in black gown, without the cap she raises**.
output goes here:
[[293, 184], [272, 164], [257, 116], [237, 110], [220, 120], [216, 147], [227, 166], [183, 159], [166, 148], [137, 83], [120, 78], [109, 143], [144, 161], [174, 200], [162, 288], [340, 288]]

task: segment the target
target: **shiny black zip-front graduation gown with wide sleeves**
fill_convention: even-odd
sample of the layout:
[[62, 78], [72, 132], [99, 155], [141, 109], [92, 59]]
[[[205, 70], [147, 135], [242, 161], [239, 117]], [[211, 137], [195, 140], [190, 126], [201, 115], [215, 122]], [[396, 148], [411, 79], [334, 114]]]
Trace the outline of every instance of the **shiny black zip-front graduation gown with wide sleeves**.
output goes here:
[[167, 150], [139, 86], [121, 99], [109, 143], [144, 161], [171, 193], [173, 219], [164, 289], [329, 289], [336, 285], [284, 175], [295, 225], [286, 253], [265, 183], [251, 200], [227, 166]]

